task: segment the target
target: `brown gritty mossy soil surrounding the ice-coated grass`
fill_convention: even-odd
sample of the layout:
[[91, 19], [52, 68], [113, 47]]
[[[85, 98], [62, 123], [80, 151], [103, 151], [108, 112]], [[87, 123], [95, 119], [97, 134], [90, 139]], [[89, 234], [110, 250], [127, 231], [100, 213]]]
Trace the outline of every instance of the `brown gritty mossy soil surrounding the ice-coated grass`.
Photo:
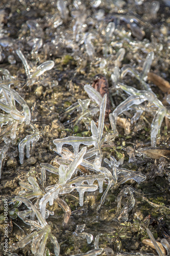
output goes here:
[[[55, 161], [57, 154], [53, 151], [56, 148], [53, 140], [68, 136], [90, 137], [91, 120], [98, 125], [99, 112], [79, 122], [77, 118], [80, 112], [65, 113], [65, 110], [78, 99], [89, 98], [84, 91], [84, 84], [92, 84], [93, 77], [99, 73], [106, 77], [111, 112], [125, 100], [127, 94], [111, 80], [111, 74], [117, 63], [116, 54], [120, 48], [125, 49], [125, 56], [118, 63], [119, 68], [129, 64], [140, 73], [147, 54], [153, 51], [154, 60], [151, 71], [170, 81], [169, 1], [160, 1], [160, 8], [155, 14], [152, 8], [157, 1], [105, 0], [99, 7], [94, 7], [94, 2], [97, 1], [82, 1], [81, 5], [78, 2], [66, 1], [68, 15], [62, 17], [56, 1], [1, 1], [0, 72], [4, 81], [0, 82], [11, 84], [11, 88], [27, 102], [31, 111], [31, 123], [40, 136], [36, 144], [31, 147], [30, 158], [24, 156], [23, 164], [20, 164], [18, 143], [33, 132], [30, 125], [19, 124], [16, 138], [13, 140], [10, 138], [11, 126], [6, 124], [1, 128], [0, 149], [3, 150], [5, 145], [8, 146], [2, 162], [0, 180], [1, 255], [15, 255], [3, 251], [6, 225], [4, 200], [9, 202], [9, 248], [32, 231], [30, 226], [16, 215], [17, 211], [26, 210], [27, 206], [23, 203], [18, 205], [10, 203], [23, 190], [19, 183], [28, 183], [28, 177], [34, 177], [45, 193], [45, 187], [54, 185], [58, 181], [57, 175], [47, 171], [44, 186], [41, 180], [40, 163], [58, 167]], [[77, 5], [79, 7], [76, 9]], [[104, 15], [97, 19], [96, 14], [99, 15], [100, 10], [103, 10]], [[132, 28], [134, 22], [130, 22], [129, 18], [138, 19], [137, 32]], [[78, 19], [81, 20], [82, 25], [77, 28], [80, 32], [77, 32], [76, 39], [74, 35], [76, 32], [73, 32], [73, 29]], [[39, 27], [34, 29], [33, 26], [30, 29], [28, 20], [36, 21]], [[60, 22], [62, 24], [58, 26]], [[117, 30], [112, 38], [107, 40], [106, 27], [109, 22], [114, 22]], [[92, 58], [87, 54], [88, 49], [84, 44], [85, 36], [87, 39], [86, 33], [93, 34], [90, 41], [94, 48]], [[36, 45], [35, 49], [31, 45], [30, 41], [34, 38], [42, 38], [42, 46], [38, 50]], [[20, 49], [27, 59], [31, 72], [47, 60], [53, 60], [55, 66], [35, 80], [28, 78], [16, 54], [17, 49]], [[9, 58], [11, 55], [16, 61], [11, 62]], [[12, 78], [7, 79], [2, 69], [7, 69]], [[123, 78], [123, 82], [143, 90], [140, 81], [129, 73]], [[153, 81], [147, 80], [147, 83], [169, 111], [168, 103], [164, 102], [167, 93], [156, 87]], [[20, 106], [17, 105], [17, 108], [19, 109]], [[47, 222], [60, 245], [60, 255], [73, 255], [92, 250], [94, 239], [98, 234], [101, 234], [99, 248], [104, 248], [101, 255], [113, 255], [113, 251], [115, 254], [157, 254], [149, 245], [142, 243], [144, 239], [149, 239], [146, 227], [149, 227], [156, 240], [165, 238], [169, 242], [169, 117], [163, 120], [157, 136], [157, 147], [153, 148], [151, 147], [151, 123], [157, 108], [148, 105], [146, 109], [134, 125], [130, 124], [129, 134], [126, 133], [121, 122], [130, 120], [135, 113], [134, 109], [133, 113], [122, 114], [120, 117], [124, 120], [119, 120], [119, 126], [117, 124], [119, 135], [116, 138], [106, 117], [102, 145], [103, 159], [114, 156], [118, 161], [125, 156], [121, 167], [141, 172], [146, 176], [145, 181], [138, 184], [129, 180], [116, 188], [111, 187], [99, 211], [96, 211], [102, 197], [99, 189], [85, 193], [83, 206], [79, 205], [79, 194], [76, 191], [61, 195], [60, 197], [71, 210], [66, 226], [63, 226], [64, 213], [58, 204], [56, 202], [52, 206], [47, 204], [47, 209], [54, 211], [54, 215], [48, 217]], [[2, 110], [1, 113], [5, 114]], [[6, 143], [7, 139], [10, 140], [8, 143]], [[68, 148], [72, 151], [71, 146]], [[106, 166], [104, 162], [102, 165]], [[75, 177], [81, 175], [85, 174], [79, 170]], [[121, 212], [117, 209], [117, 200], [120, 199], [126, 187], [132, 188], [135, 205], [128, 212], [128, 220], [123, 221]], [[103, 188], [104, 190], [107, 188], [107, 180]], [[32, 203], [36, 200], [37, 198], [31, 199]], [[127, 204], [127, 200], [130, 200], [129, 196], [124, 194], [121, 207]], [[87, 243], [86, 238], [76, 236], [74, 233], [76, 226], [82, 224], [85, 224], [84, 231], [93, 235], [91, 244]], [[33, 255], [30, 244], [17, 249], [14, 253], [20, 256]], [[44, 255], [54, 255], [53, 245], [48, 240]]]

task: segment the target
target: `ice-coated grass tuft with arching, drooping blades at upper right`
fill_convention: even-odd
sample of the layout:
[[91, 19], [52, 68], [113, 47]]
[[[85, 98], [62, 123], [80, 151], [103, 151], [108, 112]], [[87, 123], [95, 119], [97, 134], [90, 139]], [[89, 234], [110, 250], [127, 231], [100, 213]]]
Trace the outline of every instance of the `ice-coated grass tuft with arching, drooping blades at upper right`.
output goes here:
[[[150, 104], [155, 105], [155, 107], [158, 108], [158, 110], [155, 113], [154, 119], [151, 124], [151, 145], [156, 147], [156, 137], [160, 130], [163, 118], [165, 115], [169, 116], [169, 114], [165, 106], [163, 106], [162, 102], [157, 98], [156, 94], [149, 87], [148, 83], [145, 82], [147, 80], [148, 73], [151, 68], [153, 57], [154, 57], [153, 52], [150, 52], [147, 55], [147, 58], [143, 63], [143, 69], [141, 73], [138, 73], [138, 71], [136, 71], [130, 65], [125, 65], [118, 72], [117, 72], [117, 68], [115, 67], [115, 70], [114, 70], [115, 74], [112, 74], [111, 76], [113, 83], [115, 84], [115, 82], [117, 82], [118, 86], [130, 96], [116, 107], [113, 113], [109, 115], [109, 119], [110, 119], [112, 130], [115, 136], [117, 136], [118, 132], [116, 129], [116, 121], [117, 121], [117, 116], [119, 114], [124, 113], [130, 109], [133, 109], [133, 105], [139, 105], [144, 101], [148, 101]], [[123, 79], [128, 72], [134, 75], [141, 82], [145, 90], [137, 90], [136, 88], [127, 86], [126, 84], [119, 81], [120, 78]], [[145, 105], [144, 109], [145, 111], [150, 111], [147, 105]], [[133, 118], [131, 119], [131, 123], [133, 123], [134, 121], [136, 122], [137, 119], [139, 119], [142, 112], [143, 112], [142, 110], [138, 110], [134, 114]]]

